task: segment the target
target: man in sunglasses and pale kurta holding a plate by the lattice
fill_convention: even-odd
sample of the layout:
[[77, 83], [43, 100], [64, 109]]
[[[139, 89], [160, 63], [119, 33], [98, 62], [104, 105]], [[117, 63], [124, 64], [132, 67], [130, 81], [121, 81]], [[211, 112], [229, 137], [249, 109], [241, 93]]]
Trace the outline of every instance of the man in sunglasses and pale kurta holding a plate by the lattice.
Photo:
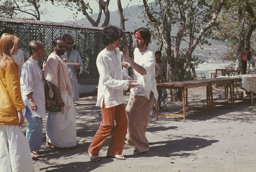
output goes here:
[[73, 91], [73, 100], [79, 100], [79, 88], [78, 88], [78, 80], [77, 73], [80, 74], [83, 72], [83, 62], [79, 55], [79, 53], [72, 49], [74, 44], [74, 38], [70, 34], [64, 34], [62, 36], [62, 40], [66, 42], [66, 51], [65, 54], [61, 57], [63, 58], [65, 63], [79, 63], [78, 65], [68, 65], [68, 75], [72, 85]]

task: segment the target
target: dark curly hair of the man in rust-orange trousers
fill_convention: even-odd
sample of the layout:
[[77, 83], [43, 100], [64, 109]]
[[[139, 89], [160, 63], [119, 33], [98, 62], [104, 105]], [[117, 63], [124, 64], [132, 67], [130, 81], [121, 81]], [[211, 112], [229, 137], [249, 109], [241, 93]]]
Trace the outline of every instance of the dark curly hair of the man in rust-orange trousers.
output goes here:
[[102, 29], [102, 44], [107, 46], [112, 44], [114, 41], [122, 38], [124, 32], [116, 26], [108, 26]]

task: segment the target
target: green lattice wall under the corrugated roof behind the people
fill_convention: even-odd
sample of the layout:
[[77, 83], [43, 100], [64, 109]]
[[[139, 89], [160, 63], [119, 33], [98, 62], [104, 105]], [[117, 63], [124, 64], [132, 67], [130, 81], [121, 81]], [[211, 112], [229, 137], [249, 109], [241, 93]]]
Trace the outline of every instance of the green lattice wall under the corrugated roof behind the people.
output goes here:
[[[86, 29], [74, 30], [70, 28], [56, 28], [50, 26], [36, 26], [32, 24], [21, 24], [19, 26], [10, 26], [8, 23], [1, 23], [0, 32], [4, 28], [11, 28], [15, 31], [19, 37], [20, 49], [24, 53], [24, 61], [26, 61], [30, 54], [28, 52], [28, 44], [32, 40], [39, 40], [45, 45], [45, 55], [42, 60], [39, 60], [39, 66], [42, 68], [42, 62], [46, 61], [49, 54], [53, 52], [52, 41], [56, 38], [61, 38], [63, 34], [69, 33], [74, 39], [75, 43], [79, 47], [79, 54], [84, 64], [83, 73], [78, 75], [78, 81], [81, 84], [86, 83], [98, 83], [99, 72], [96, 66], [96, 59], [100, 51], [104, 49], [101, 43], [101, 32], [89, 31]], [[77, 36], [77, 37], [76, 37]], [[77, 40], [77, 42], [76, 42]], [[129, 48], [129, 55], [133, 56], [133, 36], [126, 34], [122, 39], [122, 44], [125, 44]], [[122, 47], [120, 47], [122, 49]], [[132, 76], [132, 70], [128, 69], [129, 75]]]

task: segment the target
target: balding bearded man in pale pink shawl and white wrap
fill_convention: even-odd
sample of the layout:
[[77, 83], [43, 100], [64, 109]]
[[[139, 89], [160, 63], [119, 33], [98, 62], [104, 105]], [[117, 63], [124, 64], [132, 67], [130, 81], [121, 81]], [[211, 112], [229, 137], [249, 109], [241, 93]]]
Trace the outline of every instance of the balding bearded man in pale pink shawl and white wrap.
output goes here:
[[72, 87], [68, 69], [61, 55], [65, 53], [66, 43], [57, 38], [53, 42], [54, 52], [49, 55], [44, 77], [49, 82], [50, 96], [56, 95], [63, 112], [49, 112], [46, 122], [46, 147], [72, 147], [76, 141], [76, 112], [72, 100]]

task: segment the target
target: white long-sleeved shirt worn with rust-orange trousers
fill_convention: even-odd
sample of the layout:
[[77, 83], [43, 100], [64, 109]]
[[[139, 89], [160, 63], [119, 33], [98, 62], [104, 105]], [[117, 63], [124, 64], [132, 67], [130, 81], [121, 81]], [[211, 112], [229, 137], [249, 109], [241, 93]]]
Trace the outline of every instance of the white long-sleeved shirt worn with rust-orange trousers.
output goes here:
[[103, 99], [106, 108], [124, 103], [123, 90], [128, 89], [130, 76], [122, 70], [119, 48], [102, 50], [96, 65], [100, 74], [96, 106], [102, 107]]

